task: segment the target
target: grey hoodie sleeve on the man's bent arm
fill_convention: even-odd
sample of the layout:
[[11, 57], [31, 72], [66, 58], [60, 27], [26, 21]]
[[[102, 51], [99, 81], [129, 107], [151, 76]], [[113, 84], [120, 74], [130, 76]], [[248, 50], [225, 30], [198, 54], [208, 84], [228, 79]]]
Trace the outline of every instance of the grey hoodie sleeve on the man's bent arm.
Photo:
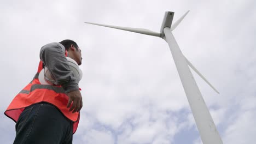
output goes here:
[[79, 90], [78, 81], [73, 71], [69, 69], [63, 45], [60, 43], [44, 45], [40, 50], [40, 59], [55, 79], [55, 85], [61, 85], [66, 93]]

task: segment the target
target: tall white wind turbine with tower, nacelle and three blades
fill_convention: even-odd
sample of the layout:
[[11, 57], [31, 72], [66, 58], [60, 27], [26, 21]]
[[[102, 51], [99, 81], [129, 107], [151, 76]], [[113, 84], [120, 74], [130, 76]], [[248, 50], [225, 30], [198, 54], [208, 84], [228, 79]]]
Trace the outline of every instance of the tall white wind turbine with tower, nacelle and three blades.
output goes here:
[[171, 50], [172, 57], [174, 60], [174, 63], [176, 65], [176, 68], [178, 70], [179, 77], [181, 79], [185, 94], [187, 95], [187, 99], [189, 101], [190, 109], [193, 113], [197, 129], [199, 130], [202, 142], [204, 144], [208, 143], [214, 143], [219, 144], [223, 143], [222, 139], [219, 136], [219, 133], [217, 131], [216, 125], [213, 122], [213, 119], [211, 117], [211, 114], [205, 104], [205, 101], [203, 100], [202, 94], [199, 90], [199, 87], [196, 84], [196, 81], [189, 69], [192, 68], [200, 77], [202, 77], [203, 80], [205, 80], [208, 85], [210, 85], [214, 91], [219, 93], [216, 88], [214, 88], [210, 82], [208, 82], [205, 77], [203, 77], [202, 74], [188, 61], [187, 58], [183, 55], [181, 52], [181, 49], [179, 49], [179, 46], [176, 42], [176, 40], [173, 37], [172, 31], [179, 25], [179, 23], [184, 19], [184, 17], [189, 13], [185, 13], [180, 19], [178, 19], [175, 23], [172, 25], [172, 20], [174, 16], [174, 12], [166, 11], [164, 20], [162, 22], [162, 26], [160, 29], [160, 33], [153, 32], [148, 29], [143, 28], [130, 28], [130, 27], [120, 27], [120, 26], [110, 26], [110, 25], [102, 25], [98, 23], [91, 23], [91, 22], [85, 22], [92, 25], [98, 25], [98, 26], [104, 26], [104, 27], [110, 27], [115, 29], [121, 29], [124, 31], [130, 31], [135, 33], [141, 33], [146, 35], [152, 35], [155, 37], [160, 37], [164, 39]]

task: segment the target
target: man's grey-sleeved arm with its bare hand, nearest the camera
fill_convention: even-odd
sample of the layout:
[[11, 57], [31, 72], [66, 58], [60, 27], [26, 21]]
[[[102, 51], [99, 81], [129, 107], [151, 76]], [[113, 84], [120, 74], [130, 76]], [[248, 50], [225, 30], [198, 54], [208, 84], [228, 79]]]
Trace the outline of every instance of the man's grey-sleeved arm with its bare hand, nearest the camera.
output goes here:
[[65, 52], [65, 47], [60, 43], [46, 44], [40, 50], [40, 59], [53, 75], [54, 84], [61, 85], [65, 89], [69, 97], [67, 107], [73, 103], [69, 111], [74, 113], [82, 109], [83, 101], [78, 81], [75, 79], [73, 71], [69, 69]]

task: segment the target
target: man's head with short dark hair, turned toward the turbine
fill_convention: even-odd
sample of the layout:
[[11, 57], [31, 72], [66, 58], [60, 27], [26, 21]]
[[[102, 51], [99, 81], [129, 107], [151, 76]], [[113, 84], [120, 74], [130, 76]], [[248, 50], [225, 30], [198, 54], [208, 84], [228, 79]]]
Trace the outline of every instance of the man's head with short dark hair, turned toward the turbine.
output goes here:
[[68, 51], [68, 56], [75, 60], [75, 62], [78, 63], [78, 65], [82, 64], [82, 53], [79, 49], [77, 43], [75, 43], [73, 40], [65, 39], [60, 42], [65, 49]]

